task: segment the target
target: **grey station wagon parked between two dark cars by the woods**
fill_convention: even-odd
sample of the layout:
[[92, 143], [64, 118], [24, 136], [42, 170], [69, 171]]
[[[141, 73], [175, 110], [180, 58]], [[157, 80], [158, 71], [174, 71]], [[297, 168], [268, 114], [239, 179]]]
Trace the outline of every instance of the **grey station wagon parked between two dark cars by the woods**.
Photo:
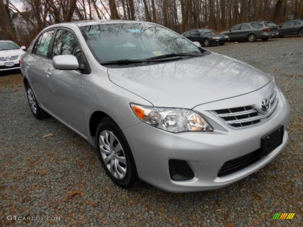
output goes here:
[[255, 21], [235, 25], [220, 34], [228, 35], [229, 41], [267, 41], [270, 37], [278, 35], [278, 26], [272, 21]]

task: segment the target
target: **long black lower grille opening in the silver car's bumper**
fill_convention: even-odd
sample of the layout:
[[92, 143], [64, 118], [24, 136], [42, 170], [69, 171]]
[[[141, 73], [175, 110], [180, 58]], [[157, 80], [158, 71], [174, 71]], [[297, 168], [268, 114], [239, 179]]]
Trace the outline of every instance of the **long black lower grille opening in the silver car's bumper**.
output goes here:
[[259, 148], [258, 150], [255, 150], [251, 153], [229, 160], [225, 162], [224, 165], [221, 167], [218, 173], [218, 177], [235, 173], [241, 169], [244, 169], [247, 166], [250, 166], [251, 164], [255, 163], [261, 158], [262, 158], [261, 148]]

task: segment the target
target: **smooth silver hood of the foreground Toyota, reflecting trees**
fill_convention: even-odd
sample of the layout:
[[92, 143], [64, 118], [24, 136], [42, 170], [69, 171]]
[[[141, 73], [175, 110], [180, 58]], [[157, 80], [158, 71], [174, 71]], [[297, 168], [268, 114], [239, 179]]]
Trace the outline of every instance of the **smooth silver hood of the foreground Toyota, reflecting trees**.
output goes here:
[[216, 53], [148, 66], [109, 68], [108, 76], [154, 106], [188, 109], [255, 91], [271, 80], [244, 62]]

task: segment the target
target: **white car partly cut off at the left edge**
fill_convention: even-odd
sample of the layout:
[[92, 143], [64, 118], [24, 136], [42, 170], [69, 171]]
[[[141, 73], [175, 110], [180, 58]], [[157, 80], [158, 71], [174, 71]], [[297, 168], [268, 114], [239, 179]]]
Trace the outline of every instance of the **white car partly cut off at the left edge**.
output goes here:
[[25, 46], [19, 47], [13, 41], [0, 40], [0, 71], [19, 69], [19, 60], [25, 49]]

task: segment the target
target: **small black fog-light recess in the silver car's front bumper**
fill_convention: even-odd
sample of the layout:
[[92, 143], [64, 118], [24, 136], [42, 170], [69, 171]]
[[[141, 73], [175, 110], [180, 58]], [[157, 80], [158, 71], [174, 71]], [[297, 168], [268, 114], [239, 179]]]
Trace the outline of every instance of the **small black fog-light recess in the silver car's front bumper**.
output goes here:
[[168, 160], [169, 175], [172, 180], [182, 181], [193, 179], [195, 174], [185, 160]]

